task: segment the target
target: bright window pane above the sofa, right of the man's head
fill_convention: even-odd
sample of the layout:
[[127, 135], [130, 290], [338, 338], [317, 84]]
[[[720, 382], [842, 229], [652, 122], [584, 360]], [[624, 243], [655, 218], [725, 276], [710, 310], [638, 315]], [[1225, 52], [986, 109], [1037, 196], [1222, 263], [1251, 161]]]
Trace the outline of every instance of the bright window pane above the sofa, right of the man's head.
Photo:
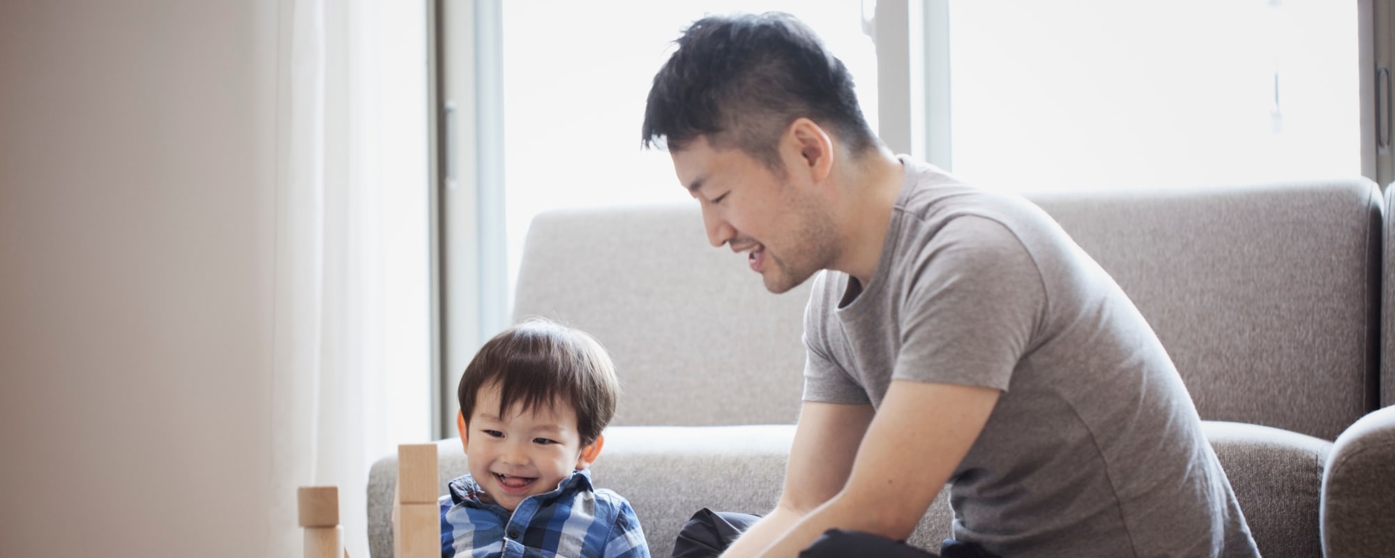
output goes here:
[[1355, 1], [951, 1], [953, 170], [1011, 190], [1359, 176]]

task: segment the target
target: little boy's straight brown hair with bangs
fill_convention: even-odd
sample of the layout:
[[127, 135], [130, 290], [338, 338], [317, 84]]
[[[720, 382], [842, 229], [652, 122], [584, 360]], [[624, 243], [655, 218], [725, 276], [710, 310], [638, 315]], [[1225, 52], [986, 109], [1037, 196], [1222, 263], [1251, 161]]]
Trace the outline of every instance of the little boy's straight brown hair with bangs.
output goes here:
[[615, 364], [586, 332], [530, 318], [495, 335], [474, 354], [456, 396], [469, 424], [480, 388], [499, 384], [499, 416], [513, 403], [525, 412], [555, 403], [576, 410], [582, 446], [591, 445], [615, 416], [619, 381]]

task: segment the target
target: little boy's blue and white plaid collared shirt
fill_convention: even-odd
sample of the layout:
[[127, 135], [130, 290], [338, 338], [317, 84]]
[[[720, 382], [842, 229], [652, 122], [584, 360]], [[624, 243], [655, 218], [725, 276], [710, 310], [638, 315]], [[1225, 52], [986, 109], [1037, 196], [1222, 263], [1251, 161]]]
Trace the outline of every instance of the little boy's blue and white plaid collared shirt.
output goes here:
[[480, 501], [469, 474], [449, 488], [441, 498], [442, 557], [649, 558], [635, 509], [614, 491], [594, 490], [589, 470], [526, 498], [512, 515]]

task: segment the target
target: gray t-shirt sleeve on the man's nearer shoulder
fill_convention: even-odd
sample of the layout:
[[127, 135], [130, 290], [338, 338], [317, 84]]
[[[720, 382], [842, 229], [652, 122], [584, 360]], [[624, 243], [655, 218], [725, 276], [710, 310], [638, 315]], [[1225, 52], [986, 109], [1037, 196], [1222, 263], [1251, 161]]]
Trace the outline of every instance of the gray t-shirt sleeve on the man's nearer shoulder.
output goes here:
[[918, 251], [893, 379], [1007, 391], [1045, 315], [1042, 273], [997, 220], [949, 220]]

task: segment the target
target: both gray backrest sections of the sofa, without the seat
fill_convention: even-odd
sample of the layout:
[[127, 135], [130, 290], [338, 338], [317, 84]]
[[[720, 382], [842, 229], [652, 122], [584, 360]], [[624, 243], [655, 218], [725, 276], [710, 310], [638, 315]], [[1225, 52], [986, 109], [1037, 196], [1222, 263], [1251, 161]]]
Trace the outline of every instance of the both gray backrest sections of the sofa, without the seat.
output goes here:
[[[1366, 180], [1032, 194], [1134, 300], [1202, 418], [1335, 439], [1378, 405], [1382, 201]], [[615, 424], [795, 420], [808, 285], [767, 293], [696, 204], [538, 215], [515, 317], [596, 335]]]

